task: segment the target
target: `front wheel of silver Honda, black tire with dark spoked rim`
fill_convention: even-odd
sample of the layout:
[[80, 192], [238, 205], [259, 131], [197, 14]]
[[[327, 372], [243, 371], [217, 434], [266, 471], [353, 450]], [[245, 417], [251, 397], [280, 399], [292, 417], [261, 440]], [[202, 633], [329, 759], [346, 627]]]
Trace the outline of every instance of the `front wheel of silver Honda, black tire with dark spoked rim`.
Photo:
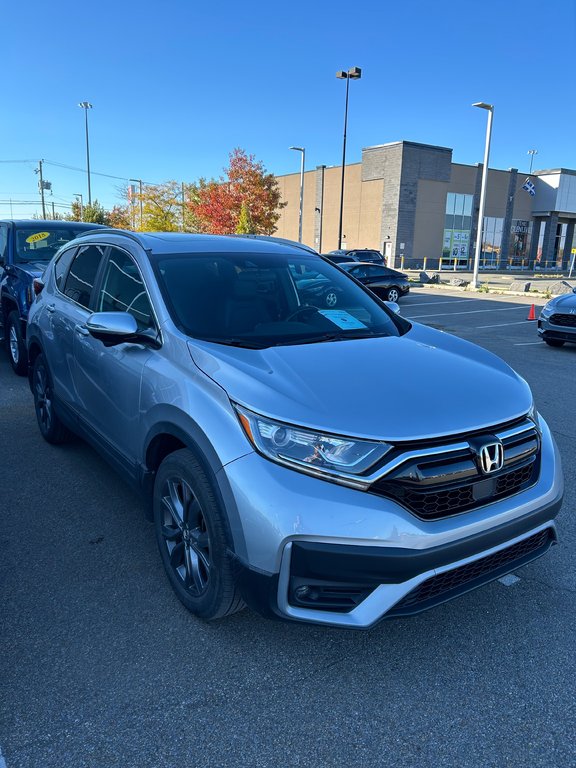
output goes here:
[[154, 527], [168, 579], [189, 611], [211, 621], [244, 606], [228, 554], [226, 513], [187, 449], [170, 454], [160, 465]]

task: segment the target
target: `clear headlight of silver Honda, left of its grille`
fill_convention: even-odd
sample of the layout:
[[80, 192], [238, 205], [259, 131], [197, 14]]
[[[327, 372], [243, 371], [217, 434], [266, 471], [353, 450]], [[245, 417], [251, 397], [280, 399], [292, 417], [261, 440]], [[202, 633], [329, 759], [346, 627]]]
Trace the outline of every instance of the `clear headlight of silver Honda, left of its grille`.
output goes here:
[[254, 448], [266, 458], [300, 472], [355, 488], [365, 488], [362, 475], [392, 446], [315, 432], [275, 421], [233, 404]]

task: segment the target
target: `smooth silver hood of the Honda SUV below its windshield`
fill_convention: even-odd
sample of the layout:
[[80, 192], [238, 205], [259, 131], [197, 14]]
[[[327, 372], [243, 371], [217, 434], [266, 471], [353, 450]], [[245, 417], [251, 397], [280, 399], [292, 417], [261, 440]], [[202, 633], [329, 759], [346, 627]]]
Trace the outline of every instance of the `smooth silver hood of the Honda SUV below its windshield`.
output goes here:
[[246, 408], [337, 434], [420, 440], [510, 421], [526, 382], [481, 347], [414, 324], [401, 337], [262, 350], [190, 341], [196, 365]]

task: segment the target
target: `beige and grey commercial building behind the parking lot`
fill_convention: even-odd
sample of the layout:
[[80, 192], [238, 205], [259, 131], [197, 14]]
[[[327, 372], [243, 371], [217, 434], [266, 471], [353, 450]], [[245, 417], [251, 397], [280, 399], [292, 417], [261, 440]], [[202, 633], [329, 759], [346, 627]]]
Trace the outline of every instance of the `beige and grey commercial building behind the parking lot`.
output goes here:
[[[304, 174], [302, 240], [338, 248], [341, 166]], [[482, 164], [452, 162], [452, 150], [409, 141], [362, 151], [345, 168], [342, 248], [376, 248], [388, 264], [466, 269], [474, 258]], [[276, 235], [298, 239], [300, 174], [278, 176]], [[576, 246], [576, 171], [527, 176], [488, 171], [481, 268], [566, 269]]]

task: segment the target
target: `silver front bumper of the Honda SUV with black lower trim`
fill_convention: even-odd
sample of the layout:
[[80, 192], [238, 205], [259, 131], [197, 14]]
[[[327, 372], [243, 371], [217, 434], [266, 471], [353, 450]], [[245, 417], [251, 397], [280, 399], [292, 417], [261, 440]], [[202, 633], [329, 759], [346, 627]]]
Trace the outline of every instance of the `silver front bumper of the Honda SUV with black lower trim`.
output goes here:
[[237, 503], [246, 602], [263, 615], [367, 628], [456, 597], [556, 542], [560, 459], [542, 422], [536, 485], [451, 518], [423, 521], [390, 499], [251, 454], [223, 470]]

